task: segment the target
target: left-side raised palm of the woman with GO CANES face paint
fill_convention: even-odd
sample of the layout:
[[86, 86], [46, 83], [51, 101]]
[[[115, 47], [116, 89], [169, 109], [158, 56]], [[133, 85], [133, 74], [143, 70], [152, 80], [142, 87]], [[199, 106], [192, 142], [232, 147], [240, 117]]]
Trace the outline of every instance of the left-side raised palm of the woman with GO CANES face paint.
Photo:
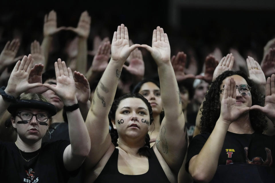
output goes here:
[[111, 45], [111, 59], [124, 63], [129, 57], [130, 53], [140, 47], [140, 44], [134, 44], [129, 46], [128, 29], [121, 24], [117, 27], [117, 31], [114, 32], [112, 45]]

